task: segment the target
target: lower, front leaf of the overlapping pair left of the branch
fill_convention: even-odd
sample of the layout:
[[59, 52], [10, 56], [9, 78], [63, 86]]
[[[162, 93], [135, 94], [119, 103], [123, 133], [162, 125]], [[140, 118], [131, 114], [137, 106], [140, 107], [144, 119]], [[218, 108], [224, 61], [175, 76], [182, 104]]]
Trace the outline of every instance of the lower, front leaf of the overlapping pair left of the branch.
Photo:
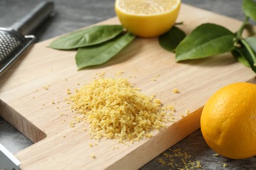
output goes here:
[[116, 56], [133, 39], [135, 39], [135, 35], [125, 33], [125, 35], [119, 35], [115, 39], [103, 42], [102, 44], [79, 48], [75, 56], [77, 69], [105, 63], [108, 59]]

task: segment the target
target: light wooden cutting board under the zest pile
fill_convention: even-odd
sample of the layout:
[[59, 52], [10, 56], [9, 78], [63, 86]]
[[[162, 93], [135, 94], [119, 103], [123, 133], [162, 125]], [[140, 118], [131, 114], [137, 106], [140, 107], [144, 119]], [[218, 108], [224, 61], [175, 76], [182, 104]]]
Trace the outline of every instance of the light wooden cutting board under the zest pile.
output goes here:
[[[242, 24], [184, 4], [177, 22], [184, 22], [179, 27], [186, 33], [205, 22], [232, 31]], [[99, 24], [119, 22], [111, 18]], [[255, 73], [230, 54], [175, 63], [174, 54], [163, 50], [158, 39], [139, 38], [104, 65], [77, 71], [75, 52], [47, 48], [52, 41], [35, 44], [0, 80], [0, 115], [35, 143], [16, 154], [22, 169], [138, 169], [200, 128], [202, 107], [216, 90], [255, 80]], [[114, 77], [119, 71], [142, 93], [174, 105], [175, 122], [134, 144], [93, 141], [82, 124], [70, 127], [72, 112], [64, 102], [67, 89], [74, 91], [98, 73]], [[180, 93], [173, 93], [173, 88]]]

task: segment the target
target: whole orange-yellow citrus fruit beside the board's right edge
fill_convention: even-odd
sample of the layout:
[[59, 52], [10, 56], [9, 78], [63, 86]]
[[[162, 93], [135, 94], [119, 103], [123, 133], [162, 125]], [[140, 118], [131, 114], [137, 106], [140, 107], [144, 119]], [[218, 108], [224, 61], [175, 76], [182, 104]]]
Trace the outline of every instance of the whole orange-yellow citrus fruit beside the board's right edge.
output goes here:
[[232, 159], [256, 155], [256, 85], [238, 82], [214, 93], [201, 116], [206, 143]]

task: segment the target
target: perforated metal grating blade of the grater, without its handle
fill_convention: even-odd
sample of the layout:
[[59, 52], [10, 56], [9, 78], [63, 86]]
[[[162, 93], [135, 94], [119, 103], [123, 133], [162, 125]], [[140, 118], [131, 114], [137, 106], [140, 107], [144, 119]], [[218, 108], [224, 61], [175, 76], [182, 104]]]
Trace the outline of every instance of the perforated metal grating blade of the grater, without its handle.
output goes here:
[[35, 42], [33, 35], [21, 35], [11, 28], [0, 27], [0, 75]]

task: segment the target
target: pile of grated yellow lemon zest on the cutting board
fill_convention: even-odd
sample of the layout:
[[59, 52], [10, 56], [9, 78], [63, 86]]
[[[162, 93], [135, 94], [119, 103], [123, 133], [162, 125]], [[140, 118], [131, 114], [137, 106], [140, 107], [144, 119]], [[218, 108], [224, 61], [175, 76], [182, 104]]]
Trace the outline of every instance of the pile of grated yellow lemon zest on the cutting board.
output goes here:
[[[89, 123], [92, 139], [106, 137], [139, 141], [165, 127], [161, 101], [139, 92], [125, 78], [100, 78], [85, 84], [66, 99], [75, 120]], [[74, 122], [70, 124], [74, 127]]]

